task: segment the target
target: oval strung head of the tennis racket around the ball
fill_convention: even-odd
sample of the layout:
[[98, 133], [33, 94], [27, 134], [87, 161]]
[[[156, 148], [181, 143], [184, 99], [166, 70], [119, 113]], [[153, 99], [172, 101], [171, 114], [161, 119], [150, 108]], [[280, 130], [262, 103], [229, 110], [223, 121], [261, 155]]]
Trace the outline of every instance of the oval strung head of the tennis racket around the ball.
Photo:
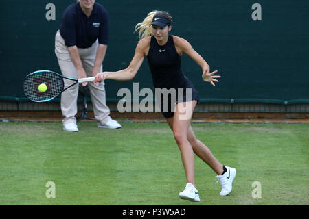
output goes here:
[[[41, 92], [38, 86], [45, 83], [47, 90]], [[28, 99], [43, 102], [58, 96], [64, 88], [64, 82], [60, 75], [51, 72], [40, 72], [27, 76], [23, 82], [23, 92]]]

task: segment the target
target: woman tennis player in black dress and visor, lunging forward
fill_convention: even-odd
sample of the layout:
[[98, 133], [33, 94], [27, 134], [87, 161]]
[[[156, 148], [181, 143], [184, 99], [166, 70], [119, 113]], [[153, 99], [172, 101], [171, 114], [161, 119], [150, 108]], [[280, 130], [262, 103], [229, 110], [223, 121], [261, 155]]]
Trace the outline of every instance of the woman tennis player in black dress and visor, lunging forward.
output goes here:
[[[117, 72], [98, 73], [95, 82], [101, 82], [105, 79], [117, 81], [127, 81], [135, 77], [144, 57], [147, 57], [152, 80], [155, 88], [183, 88], [183, 96], [177, 99], [174, 109], [163, 112], [163, 116], [174, 133], [174, 138], [181, 151], [181, 159], [185, 168], [187, 184], [185, 190], [179, 193], [179, 197], [190, 201], [200, 201], [198, 190], [194, 183], [194, 153], [198, 155], [206, 164], [208, 164], [217, 174], [218, 181], [222, 185], [220, 196], [226, 196], [231, 192], [232, 182], [236, 176], [236, 169], [223, 166], [211, 151], [196, 138], [190, 125], [194, 107], [198, 99], [198, 92], [193, 84], [181, 70], [181, 55], [189, 55], [202, 68], [202, 78], [215, 86], [219, 75], [215, 75], [218, 70], [210, 73], [209, 65], [199, 55], [187, 40], [178, 36], [172, 36], [169, 32], [172, 17], [168, 12], [153, 11], [148, 14], [143, 22], [135, 26], [135, 31], [139, 31], [141, 39], [135, 49], [135, 55], [128, 68]], [[187, 89], [190, 89], [191, 96], [187, 95]], [[164, 102], [164, 101], [163, 101]], [[168, 99], [170, 105], [171, 98]], [[162, 103], [162, 101], [161, 101]], [[161, 112], [162, 106], [161, 104]], [[183, 117], [183, 112], [189, 116]], [[217, 181], [217, 182], [218, 182]]]

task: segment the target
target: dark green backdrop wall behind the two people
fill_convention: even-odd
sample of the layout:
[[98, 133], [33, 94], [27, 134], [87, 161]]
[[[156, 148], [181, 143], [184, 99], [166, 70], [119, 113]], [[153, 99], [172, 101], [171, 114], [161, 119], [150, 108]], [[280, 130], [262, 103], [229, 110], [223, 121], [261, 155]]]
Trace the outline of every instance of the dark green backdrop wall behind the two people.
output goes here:
[[[0, 10], [0, 96], [23, 97], [23, 77], [35, 70], [60, 73], [54, 35], [62, 12], [76, 1], [3, 1]], [[109, 12], [111, 39], [104, 70], [126, 68], [133, 57], [135, 25], [152, 10], [173, 17], [172, 33], [188, 40], [222, 79], [214, 88], [201, 79], [201, 68], [183, 55], [182, 68], [202, 99], [309, 99], [309, 1], [247, 0], [98, 0]], [[47, 21], [47, 3], [56, 20]], [[253, 3], [262, 5], [262, 21], [253, 21]], [[133, 81], [106, 81], [108, 99], [119, 88], [152, 88], [147, 60]], [[120, 98], [120, 97], [118, 97]]]

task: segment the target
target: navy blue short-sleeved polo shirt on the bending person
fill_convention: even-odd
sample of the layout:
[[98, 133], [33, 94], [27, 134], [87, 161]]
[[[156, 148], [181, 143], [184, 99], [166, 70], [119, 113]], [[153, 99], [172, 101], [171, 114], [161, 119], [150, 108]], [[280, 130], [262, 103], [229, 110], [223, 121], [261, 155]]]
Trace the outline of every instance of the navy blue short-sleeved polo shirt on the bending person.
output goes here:
[[98, 39], [100, 44], [108, 44], [109, 38], [107, 10], [95, 3], [89, 18], [80, 3], [69, 5], [62, 15], [60, 34], [67, 47], [88, 48]]

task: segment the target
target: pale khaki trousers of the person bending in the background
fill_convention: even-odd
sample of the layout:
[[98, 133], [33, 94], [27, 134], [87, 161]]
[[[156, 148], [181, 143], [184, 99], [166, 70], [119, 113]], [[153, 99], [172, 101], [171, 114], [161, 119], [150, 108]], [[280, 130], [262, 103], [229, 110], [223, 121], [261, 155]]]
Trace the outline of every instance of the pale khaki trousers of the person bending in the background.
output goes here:
[[[80, 60], [82, 60], [82, 66], [86, 71], [87, 77], [92, 77], [92, 70], [95, 62], [97, 48], [98, 40], [87, 49], [78, 48]], [[67, 46], [65, 45], [65, 40], [63, 40], [59, 31], [57, 31], [55, 36], [55, 53], [58, 58], [58, 64], [60, 66], [62, 75], [71, 78], [78, 78], [76, 68], [71, 61], [69, 51], [67, 49]], [[65, 79], [65, 88], [67, 88], [67, 86], [72, 83], [73, 81]], [[102, 124], [107, 123], [108, 120], [111, 120], [111, 117], [109, 116], [110, 110], [106, 105], [104, 82], [100, 83], [99, 86], [95, 86], [93, 83], [89, 82], [88, 86], [90, 90], [91, 101], [93, 104], [93, 112], [95, 115], [95, 119]], [[72, 86], [61, 94], [61, 112], [63, 116], [62, 123], [64, 125], [67, 123], [76, 123], [75, 115], [78, 112], [77, 98], [78, 85]]]

